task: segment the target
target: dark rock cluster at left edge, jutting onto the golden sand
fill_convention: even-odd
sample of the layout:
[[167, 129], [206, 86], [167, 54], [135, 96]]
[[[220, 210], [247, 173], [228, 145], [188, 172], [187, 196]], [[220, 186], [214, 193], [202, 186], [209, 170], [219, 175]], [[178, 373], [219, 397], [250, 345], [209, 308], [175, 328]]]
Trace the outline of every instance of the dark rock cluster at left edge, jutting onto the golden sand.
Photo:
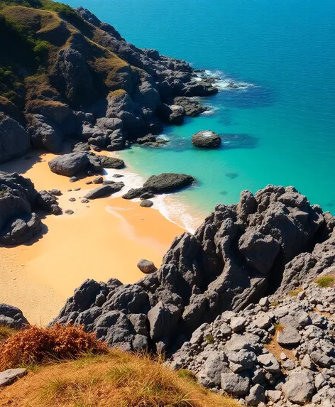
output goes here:
[[0, 171], [0, 242], [16, 245], [40, 234], [42, 223], [34, 210], [61, 212], [55, 196], [37, 192], [33, 183], [17, 173]]

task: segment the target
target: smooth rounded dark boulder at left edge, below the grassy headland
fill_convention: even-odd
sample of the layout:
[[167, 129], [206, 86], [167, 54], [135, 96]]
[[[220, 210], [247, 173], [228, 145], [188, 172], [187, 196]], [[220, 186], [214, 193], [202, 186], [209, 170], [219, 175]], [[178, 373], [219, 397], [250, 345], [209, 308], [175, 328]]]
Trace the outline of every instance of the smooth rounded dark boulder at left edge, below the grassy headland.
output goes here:
[[0, 112], [0, 163], [22, 156], [30, 146], [28, 132], [23, 126]]

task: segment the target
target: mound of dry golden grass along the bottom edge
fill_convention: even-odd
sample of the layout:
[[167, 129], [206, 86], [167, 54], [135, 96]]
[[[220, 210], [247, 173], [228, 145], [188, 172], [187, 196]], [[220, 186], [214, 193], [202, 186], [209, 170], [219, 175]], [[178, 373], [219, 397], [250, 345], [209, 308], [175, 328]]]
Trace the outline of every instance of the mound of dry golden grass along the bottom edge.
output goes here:
[[4, 389], [0, 406], [238, 407], [232, 398], [199, 386], [185, 371], [170, 371], [148, 355], [109, 354], [53, 364]]

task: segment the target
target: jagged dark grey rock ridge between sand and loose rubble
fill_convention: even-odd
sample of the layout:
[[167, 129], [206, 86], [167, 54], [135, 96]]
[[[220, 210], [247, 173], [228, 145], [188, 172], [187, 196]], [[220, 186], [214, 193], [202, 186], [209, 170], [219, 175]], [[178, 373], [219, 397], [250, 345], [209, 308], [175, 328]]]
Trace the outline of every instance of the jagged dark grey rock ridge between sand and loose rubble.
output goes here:
[[[110, 345], [171, 352], [225, 310], [326, 273], [333, 228], [334, 218], [295, 188], [243, 191], [237, 205], [216, 205], [194, 235], [176, 238], [157, 273], [132, 285], [87, 280], [54, 322], [84, 324]], [[287, 271], [317, 244], [324, 247], [317, 268]]]

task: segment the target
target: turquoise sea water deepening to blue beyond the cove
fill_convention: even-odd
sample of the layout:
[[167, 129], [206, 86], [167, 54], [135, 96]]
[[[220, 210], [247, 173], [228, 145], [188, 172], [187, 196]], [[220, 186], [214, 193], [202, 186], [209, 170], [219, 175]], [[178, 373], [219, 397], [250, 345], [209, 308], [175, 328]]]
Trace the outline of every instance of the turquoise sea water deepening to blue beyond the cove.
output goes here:
[[[334, 1], [67, 3], [87, 7], [135, 45], [253, 85], [207, 98], [214, 113], [165, 129], [171, 140], [165, 148], [122, 152], [138, 173], [194, 175], [198, 186], [178, 197], [199, 213], [268, 183], [295, 185], [312, 203], [335, 212]], [[229, 134], [221, 149], [192, 148], [192, 134], [205, 129]]]

